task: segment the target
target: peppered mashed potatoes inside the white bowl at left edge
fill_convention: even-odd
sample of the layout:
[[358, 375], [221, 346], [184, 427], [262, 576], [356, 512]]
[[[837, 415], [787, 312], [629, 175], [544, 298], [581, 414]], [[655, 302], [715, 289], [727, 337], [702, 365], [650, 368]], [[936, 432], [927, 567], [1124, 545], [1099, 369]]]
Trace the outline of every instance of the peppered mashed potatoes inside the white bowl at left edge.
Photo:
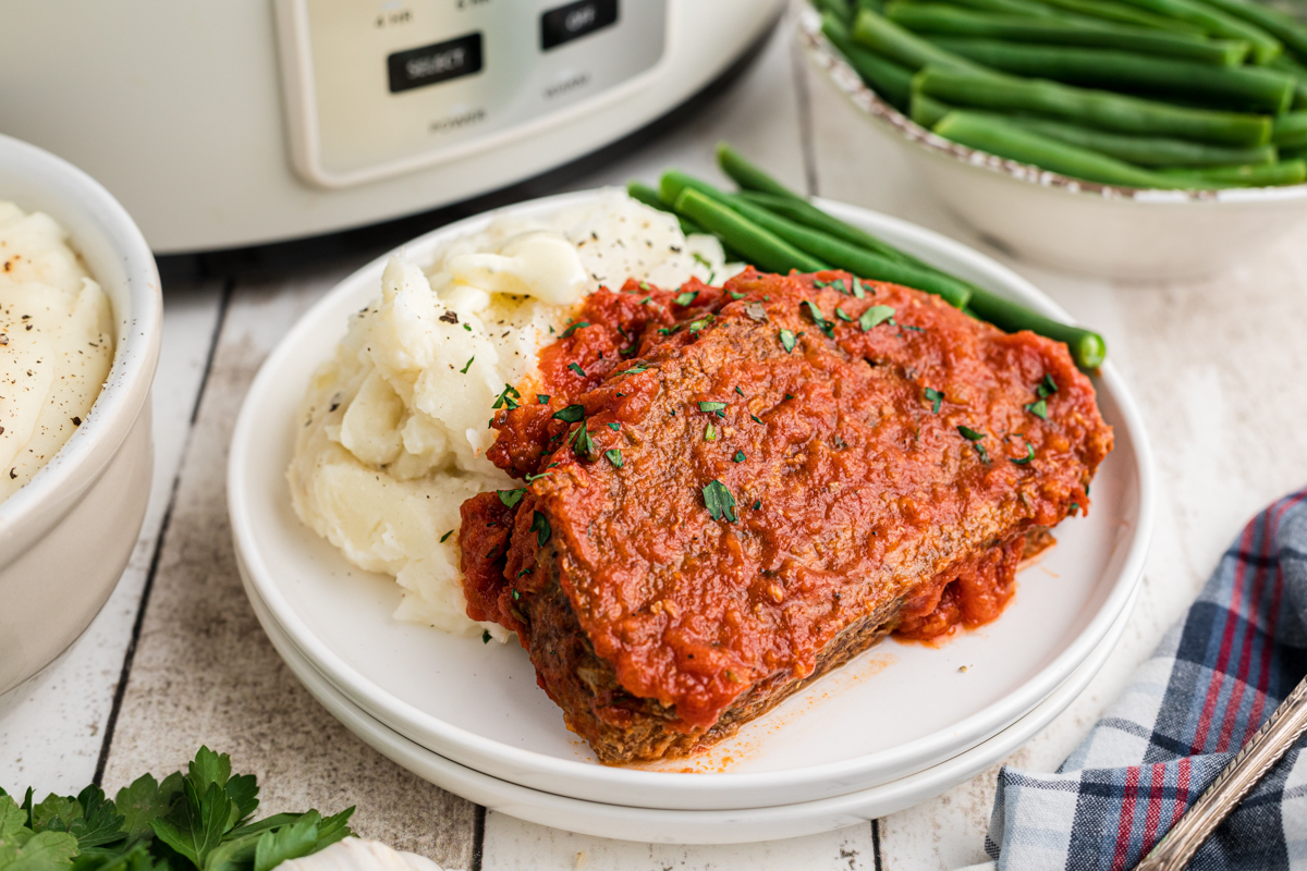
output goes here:
[[0, 202], [0, 500], [72, 437], [112, 360], [108, 298], [64, 229]]

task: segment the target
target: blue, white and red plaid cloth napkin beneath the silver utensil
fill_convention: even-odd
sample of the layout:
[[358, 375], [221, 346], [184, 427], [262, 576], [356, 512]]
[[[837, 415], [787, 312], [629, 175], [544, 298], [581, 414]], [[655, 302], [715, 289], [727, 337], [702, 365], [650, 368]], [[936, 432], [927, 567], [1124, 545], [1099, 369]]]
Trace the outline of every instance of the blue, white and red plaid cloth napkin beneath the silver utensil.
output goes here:
[[[1307, 490], [1249, 522], [1133, 682], [1055, 774], [1004, 768], [1000, 870], [1133, 868], [1307, 674]], [[1307, 739], [1189, 868], [1307, 868]]]

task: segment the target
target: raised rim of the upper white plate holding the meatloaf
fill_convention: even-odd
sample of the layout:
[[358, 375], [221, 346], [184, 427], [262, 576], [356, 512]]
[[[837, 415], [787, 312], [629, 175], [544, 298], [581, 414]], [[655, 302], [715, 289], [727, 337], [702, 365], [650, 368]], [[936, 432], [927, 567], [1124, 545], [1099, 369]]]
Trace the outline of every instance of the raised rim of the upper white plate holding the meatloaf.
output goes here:
[[[1112, 581], [1098, 612], [1091, 618], [1081, 633], [1057, 654], [1052, 662], [1035, 673], [1035, 675], [1013, 692], [996, 699], [970, 717], [953, 723], [950, 727], [937, 730], [921, 738], [904, 742], [897, 747], [876, 751], [850, 760], [823, 763], [821, 765], [791, 768], [774, 772], [742, 772], [742, 773], [681, 773], [681, 772], [651, 772], [644, 769], [618, 768], [596, 765], [583, 760], [552, 756], [532, 750], [511, 747], [491, 738], [485, 738], [460, 726], [443, 721], [434, 714], [414, 708], [403, 699], [383, 691], [376, 684], [367, 680], [349, 662], [344, 661], [325, 644], [323, 644], [303, 623], [290, 603], [280, 594], [277, 585], [269, 580], [269, 571], [260, 559], [257, 535], [251, 528], [248, 515], [243, 515], [239, 508], [248, 501], [242, 471], [246, 465], [247, 451], [257, 443], [256, 430], [259, 420], [255, 417], [257, 397], [269, 389], [277, 377], [277, 371], [284, 359], [291, 355], [294, 346], [308, 333], [315, 316], [322, 316], [325, 309], [339, 307], [342, 298], [363, 281], [379, 281], [387, 260], [396, 253], [409, 253], [429, 251], [431, 247], [447, 238], [455, 238], [468, 232], [474, 232], [490, 221], [505, 214], [531, 215], [548, 214], [592, 201], [603, 196], [606, 191], [616, 188], [595, 188], [571, 193], [554, 195], [514, 204], [493, 212], [471, 215], [443, 227], [438, 227], [413, 240], [409, 240], [392, 251], [388, 251], [369, 264], [350, 273], [324, 294], [311, 308], [281, 338], [273, 351], [265, 358], [257, 375], [250, 385], [246, 398], [242, 402], [237, 424], [233, 430], [229, 465], [227, 465], [227, 505], [231, 522], [233, 542], [238, 555], [243, 559], [254, 580], [260, 597], [268, 605], [277, 623], [286, 629], [286, 633], [295, 640], [305, 654], [324, 674], [332, 675], [339, 687], [348, 687], [348, 695], [361, 708], [369, 710], [371, 716], [400, 734], [420, 733], [425, 742], [414, 742], [422, 746], [429, 743], [442, 744], [439, 750], [429, 747], [433, 752], [451, 756], [468, 756], [497, 760], [499, 767], [511, 767], [516, 770], [529, 769], [544, 777], [565, 777], [595, 784], [605, 789], [635, 789], [652, 790], [655, 793], [693, 794], [724, 791], [754, 793], [759, 789], [786, 789], [800, 784], [819, 782], [838, 776], [838, 780], [847, 780], [856, 776], [859, 770], [876, 770], [885, 768], [891, 757], [938, 757], [941, 746], [966, 743], [958, 742], [958, 734], [972, 736], [972, 744], [985, 740], [995, 733], [1010, 726], [1021, 716], [1029, 713], [1043, 699], [1047, 697], [1060, 683], [1093, 652], [1111, 628], [1114, 620], [1129, 601], [1134, 588], [1142, 578], [1144, 562], [1148, 555], [1149, 542], [1153, 533], [1155, 513], [1155, 475], [1151, 457], [1151, 448], [1142, 424], [1133, 396], [1125, 387], [1112, 362], [1107, 362], [1097, 376], [1106, 387], [1121, 415], [1121, 424], [1128, 430], [1134, 452], [1134, 474], [1138, 479], [1137, 524], [1132, 530], [1133, 541], [1125, 559], [1121, 563], [1117, 577]], [[1031, 282], [1022, 278], [1012, 269], [992, 260], [991, 257], [970, 248], [968, 245], [949, 239], [936, 231], [919, 225], [894, 218], [870, 209], [853, 206], [829, 200], [816, 198], [814, 202], [829, 209], [838, 217], [853, 219], [855, 223], [869, 225], [872, 227], [890, 229], [902, 240], [908, 240], [911, 248], [928, 249], [944, 255], [955, 262], [967, 266], [972, 273], [988, 274], [1002, 286], [991, 287], [1002, 295], [1016, 295], [1023, 303], [1034, 306], [1043, 313], [1072, 321], [1073, 319], [1060, 306], [1048, 299]], [[383, 714], [389, 714], [383, 716]], [[403, 723], [405, 729], [396, 727]], [[434, 736], [434, 739], [433, 739]], [[446, 747], [446, 744], [448, 747]], [[455, 753], [450, 753], [450, 751]], [[461, 751], [461, 753], [459, 752]], [[890, 782], [894, 778], [890, 780]], [[701, 799], [702, 800], [702, 799]]]

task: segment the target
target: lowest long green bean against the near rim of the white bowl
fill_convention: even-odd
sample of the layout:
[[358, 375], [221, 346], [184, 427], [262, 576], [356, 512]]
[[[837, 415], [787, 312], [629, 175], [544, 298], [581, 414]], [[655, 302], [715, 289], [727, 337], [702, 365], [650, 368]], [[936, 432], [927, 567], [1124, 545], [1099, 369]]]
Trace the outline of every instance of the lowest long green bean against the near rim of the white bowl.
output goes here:
[[[1192, 179], [1180, 179], [1132, 166], [1116, 158], [1068, 145], [1017, 127], [1001, 115], [954, 111], [935, 125], [946, 140], [997, 154], [1009, 161], [1030, 163], [1086, 182], [1120, 184], [1132, 188], [1184, 189], [1196, 187]], [[1201, 187], [1225, 187], [1218, 182]]]

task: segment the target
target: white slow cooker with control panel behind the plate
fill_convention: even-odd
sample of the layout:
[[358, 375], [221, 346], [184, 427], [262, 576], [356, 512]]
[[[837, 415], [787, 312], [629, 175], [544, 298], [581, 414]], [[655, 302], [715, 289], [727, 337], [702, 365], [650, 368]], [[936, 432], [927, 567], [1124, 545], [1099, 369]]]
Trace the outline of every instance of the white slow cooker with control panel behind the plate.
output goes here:
[[157, 253], [495, 191], [650, 124], [784, 0], [4, 4], [0, 131], [88, 171]]

